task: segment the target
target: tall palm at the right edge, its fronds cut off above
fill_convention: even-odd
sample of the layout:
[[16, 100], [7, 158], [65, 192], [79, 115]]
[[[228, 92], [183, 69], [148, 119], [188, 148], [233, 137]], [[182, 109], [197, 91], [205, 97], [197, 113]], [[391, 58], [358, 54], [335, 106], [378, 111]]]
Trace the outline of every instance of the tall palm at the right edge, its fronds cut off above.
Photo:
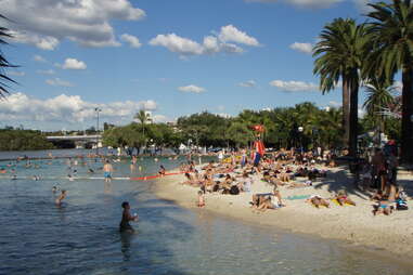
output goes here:
[[402, 71], [401, 158], [413, 162], [413, 2], [393, 0], [392, 3], [369, 4], [367, 14], [373, 49], [369, 56], [367, 74], [389, 80]]

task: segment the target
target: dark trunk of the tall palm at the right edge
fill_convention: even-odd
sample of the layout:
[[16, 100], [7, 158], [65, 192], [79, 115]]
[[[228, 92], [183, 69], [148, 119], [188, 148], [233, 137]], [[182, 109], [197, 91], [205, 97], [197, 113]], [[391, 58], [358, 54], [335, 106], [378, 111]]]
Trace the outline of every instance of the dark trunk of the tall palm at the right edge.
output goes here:
[[402, 73], [401, 161], [413, 163], [413, 67], [404, 66]]

